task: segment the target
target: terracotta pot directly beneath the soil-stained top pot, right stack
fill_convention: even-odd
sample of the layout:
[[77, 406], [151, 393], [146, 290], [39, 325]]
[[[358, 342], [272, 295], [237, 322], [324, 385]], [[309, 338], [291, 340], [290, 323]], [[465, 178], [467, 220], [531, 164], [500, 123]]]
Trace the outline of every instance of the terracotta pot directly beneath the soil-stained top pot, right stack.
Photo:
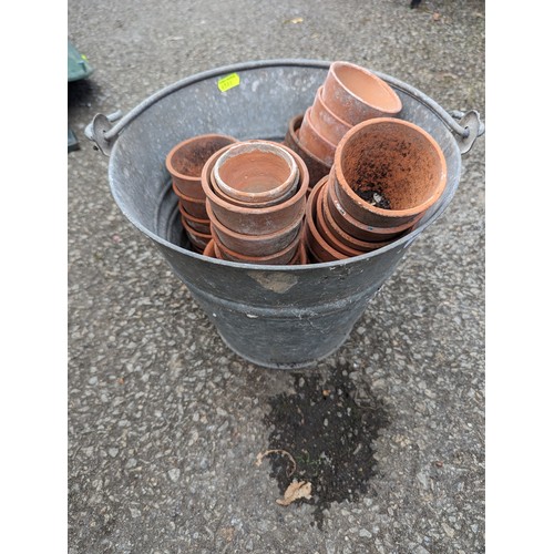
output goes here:
[[348, 235], [367, 243], [380, 243], [399, 238], [406, 233], [409, 233], [412, 227], [423, 217], [423, 214], [416, 219], [398, 225], [397, 227], [375, 227], [366, 225], [352, 217], [340, 204], [337, 196], [337, 183], [334, 176], [334, 170], [329, 174], [329, 182], [326, 187], [326, 207], [332, 220]]

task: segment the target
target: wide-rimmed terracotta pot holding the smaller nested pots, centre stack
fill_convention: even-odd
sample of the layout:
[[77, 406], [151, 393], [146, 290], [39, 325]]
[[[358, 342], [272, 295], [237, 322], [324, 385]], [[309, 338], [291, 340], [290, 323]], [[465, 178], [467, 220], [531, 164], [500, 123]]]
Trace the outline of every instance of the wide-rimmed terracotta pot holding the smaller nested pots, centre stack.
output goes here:
[[209, 175], [213, 166], [227, 147], [216, 152], [202, 171], [202, 186], [207, 196], [207, 203], [215, 217], [225, 227], [243, 235], [267, 235], [289, 226], [296, 222], [306, 208], [306, 194], [309, 185], [308, 168], [302, 158], [287, 146], [281, 146], [295, 158], [299, 168], [299, 184], [296, 193], [285, 202], [274, 206], [256, 208], [237, 206], [217, 196], [212, 187]]

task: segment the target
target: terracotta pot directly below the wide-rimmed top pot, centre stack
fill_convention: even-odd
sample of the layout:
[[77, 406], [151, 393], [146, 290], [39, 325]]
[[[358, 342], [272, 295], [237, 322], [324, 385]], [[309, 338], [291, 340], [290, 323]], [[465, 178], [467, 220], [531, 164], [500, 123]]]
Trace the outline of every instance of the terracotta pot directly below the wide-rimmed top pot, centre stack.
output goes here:
[[247, 256], [269, 256], [283, 250], [297, 237], [304, 220], [304, 214], [300, 214], [290, 225], [275, 233], [268, 235], [244, 235], [235, 233], [219, 223], [209, 205], [207, 209], [209, 219], [212, 220], [212, 235], [217, 237], [218, 242], [229, 250]]

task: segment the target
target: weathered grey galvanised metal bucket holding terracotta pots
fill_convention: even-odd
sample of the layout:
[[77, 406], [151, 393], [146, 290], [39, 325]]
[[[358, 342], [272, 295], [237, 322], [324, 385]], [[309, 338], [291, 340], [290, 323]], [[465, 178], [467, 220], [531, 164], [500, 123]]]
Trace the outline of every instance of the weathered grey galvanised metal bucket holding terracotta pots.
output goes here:
[[[428, 131], [447, 158], [447, 188], [417, 228], [376, 252], [307, 266], [253, 266], [189, 250], [165, 168], [167, 152], [204, 133], [283, 141], [288, 121], [314, 102], [329, 65], [273, 60], [225, 66], [161, 90], [113, 126], [102, 114], [89, 125], [89, 137], [110, 155], [110, 186], [122, 213], [160, 248], [224, 342], [269, 368], [311, 366], [343, 343], [406, 249], [452, 201], [461, 153], [483, 132], [476, 112], [456, 112], [456, 121], [423, 93], [376, 72], [400, 95], [400, 116]], [[229, 74], [238, 79], [225, 80]], [[235, 86], [226, 90], [229, 82]]]

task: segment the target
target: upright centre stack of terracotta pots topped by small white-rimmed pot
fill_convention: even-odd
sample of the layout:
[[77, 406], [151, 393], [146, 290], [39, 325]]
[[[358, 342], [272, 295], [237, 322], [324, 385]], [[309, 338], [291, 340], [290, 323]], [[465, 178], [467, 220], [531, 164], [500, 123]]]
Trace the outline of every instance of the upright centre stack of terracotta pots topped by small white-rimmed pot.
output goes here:
[[309, 174], [301, 157], [271, 141], [223, 147], [204, 165], [213, 240], [207, 256], [245, 264], [306, 264]]

